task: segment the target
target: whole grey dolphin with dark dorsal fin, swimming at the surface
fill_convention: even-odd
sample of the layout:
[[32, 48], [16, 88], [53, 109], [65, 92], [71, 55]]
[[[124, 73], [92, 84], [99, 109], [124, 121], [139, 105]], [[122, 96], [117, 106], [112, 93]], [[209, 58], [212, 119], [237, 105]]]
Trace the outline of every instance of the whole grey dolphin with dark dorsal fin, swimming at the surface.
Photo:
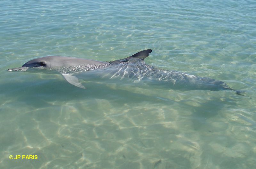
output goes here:
[[140, 51], [132, 56], [115, 61], [97, 61], [90, 59], [46, 56], [28, 61], [22, 67], [11, 68], [8, 71], [35, 71], [60, 73], [70, 84], [85, 88], [79, 81], [107, 81], [119, 83], [146, 84], [156, 88], [172, 88], [179, 90], [235, 90], [223, 81], [207, 77], [198, 77], [178, 71], [168, 71], [149, 66], [144, 59], [151, 53], [151, 49]]

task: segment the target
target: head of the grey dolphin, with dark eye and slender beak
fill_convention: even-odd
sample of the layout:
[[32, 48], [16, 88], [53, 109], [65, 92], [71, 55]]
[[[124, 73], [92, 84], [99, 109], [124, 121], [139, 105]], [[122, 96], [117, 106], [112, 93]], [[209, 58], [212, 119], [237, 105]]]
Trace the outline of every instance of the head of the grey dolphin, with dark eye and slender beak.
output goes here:
[[29, 68], [50, 68], [50, 62], [51, 58], [50, 57], [42, 57], [42, 58], [36, 58], [33, 60], [28, 61], [22, 67], [17, 67], [17, 68], [11, 68], [8, 69], [8, 71], [26, 71]]

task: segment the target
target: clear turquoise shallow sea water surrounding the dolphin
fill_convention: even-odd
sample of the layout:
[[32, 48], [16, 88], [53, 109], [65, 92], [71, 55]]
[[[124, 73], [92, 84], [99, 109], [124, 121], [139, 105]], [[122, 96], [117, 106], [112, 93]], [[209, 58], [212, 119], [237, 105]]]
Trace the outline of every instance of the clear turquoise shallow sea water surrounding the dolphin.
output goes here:
[[[0, 168], [255, 168], [255, 1], [0, 2]], [[246, 91], [7, 72], [39, 56], [146, 63]], [[38, 159], [9, 159], [37, 155]], [[161, 163], [159, 163], [161, 160]]]

